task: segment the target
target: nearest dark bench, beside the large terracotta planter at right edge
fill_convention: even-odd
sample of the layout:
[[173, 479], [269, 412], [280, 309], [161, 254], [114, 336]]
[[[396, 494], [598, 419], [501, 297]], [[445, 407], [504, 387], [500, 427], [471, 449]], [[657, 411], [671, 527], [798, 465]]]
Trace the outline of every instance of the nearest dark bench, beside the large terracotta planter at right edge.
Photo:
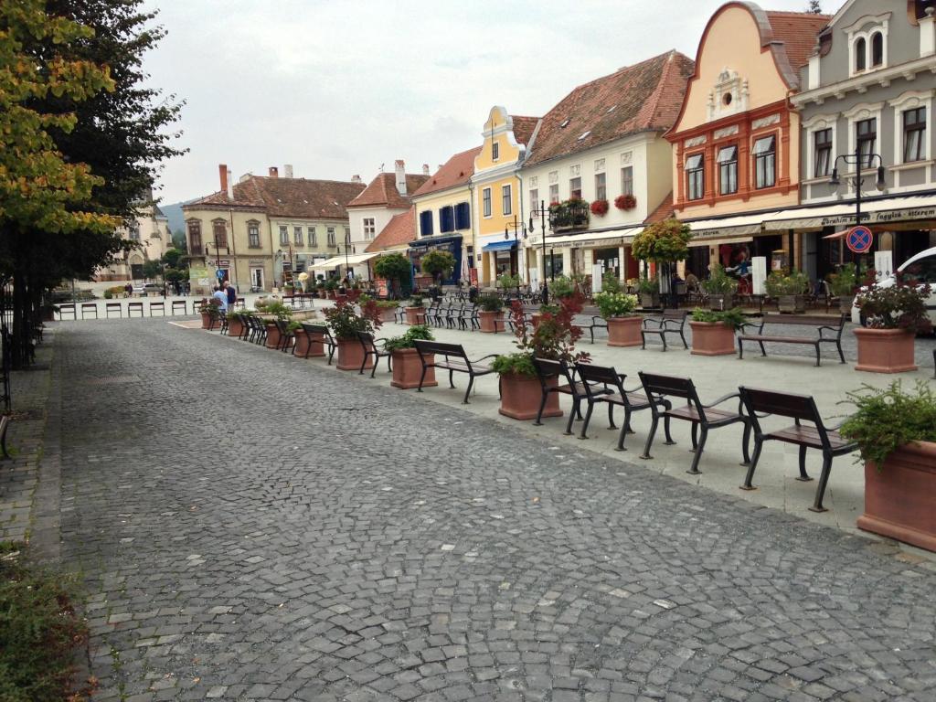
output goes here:
[[[822, 505], [826, 494], [828, 475], [832, 470], [832, 459], [852, 453], [857, 447], [856, 442], [842, 438], [837, 431], [839, 426], [826, 427], [819, 416], [815, 400], [808, 395], [792, 395], [773, 390], [760, 390], [756, 388], [739, 388], [741, 402], [747, 409], [748, 417], [754, 431], [754, 455], [748, 468], [748, 475], [744, 478], [741, 490], [755, 490], [751, 481], [757, 461], [760, 461], [761, 448], [765, 441], [781, 441], [784, 444], [799, 446], [799, 477], [797, 480], [812, 480], [806, 473], [806, 449], [817, 448], [822, 451], [822, 475], [819, 476], [819, 485], [816, 488], [815, 502], [810, 507], [812, 512], [825, 512]], [[792, 427], [780, 431], [764, 431], [759, 419], [776, 415], [777, 417], [790, 417], [795, 421]], [[801, 422], [810, 422], [812, 426], [803, 426]]]

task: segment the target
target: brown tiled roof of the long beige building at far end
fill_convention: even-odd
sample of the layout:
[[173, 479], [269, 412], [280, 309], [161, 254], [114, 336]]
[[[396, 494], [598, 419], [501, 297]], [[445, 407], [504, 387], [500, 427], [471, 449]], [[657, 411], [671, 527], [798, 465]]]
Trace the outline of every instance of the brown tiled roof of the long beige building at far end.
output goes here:
[[362, 183], [250, 176], [234, 184], [233, 200], [227, 199], [227, 193], [217, 192], [183, 205], [183, 210], [247, 207], [265, 209], [271, 216], [347, 219], [348, 203], [363, 189]]

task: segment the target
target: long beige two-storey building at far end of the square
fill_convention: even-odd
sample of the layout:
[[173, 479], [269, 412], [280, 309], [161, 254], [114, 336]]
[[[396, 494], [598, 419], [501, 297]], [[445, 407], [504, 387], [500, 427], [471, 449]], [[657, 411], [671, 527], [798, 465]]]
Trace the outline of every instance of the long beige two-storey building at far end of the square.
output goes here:
[[218, 167], [221, 189], [183, 207], [192, 292], [230, 280], [242, 292], [271, 290], [335, 256], [348, 236], [346, 207], [364, 190], [355, 182], [294, 178], [292, 167], [247, 174], [233, 183]]

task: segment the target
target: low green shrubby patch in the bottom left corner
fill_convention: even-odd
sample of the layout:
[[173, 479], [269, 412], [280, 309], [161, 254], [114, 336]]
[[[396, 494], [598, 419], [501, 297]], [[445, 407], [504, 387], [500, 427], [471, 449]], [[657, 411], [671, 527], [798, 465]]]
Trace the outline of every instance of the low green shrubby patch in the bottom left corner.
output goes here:
[[71, 607], [73, 579], [24, 563], [22, 548], [0, 543], [0, 700], [86, 700], [91, 690], [72, 685], [75, 649], [88, 638]]

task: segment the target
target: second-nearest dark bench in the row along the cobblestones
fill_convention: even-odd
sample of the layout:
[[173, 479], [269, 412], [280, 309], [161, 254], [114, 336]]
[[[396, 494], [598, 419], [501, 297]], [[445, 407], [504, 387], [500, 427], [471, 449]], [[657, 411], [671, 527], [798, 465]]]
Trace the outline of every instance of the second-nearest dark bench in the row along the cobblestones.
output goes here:
[[656, 433], [657, 424], [660, 417], [664, 419], [664, 430], [666, 433], [666, 444], [675, 444], [669, 435], [669, 420], [681, 419], [692, 423], [693, 439], [693, 457], [692, 467], [686, 471], [691, 475], [697, 475], [699, 471], [699, 460], [702, 458], [702, 451], [705, 450], [705, 442], [709, 436], [709, 430], [720, 429], [731, 424], [740, 422], [744, 425], [744, 435], [741, 439], [741, 454], [744, 456], [744, 462], [741, 465], [747, 465], [750, 462], [748, 454], [748, 442], [751, 439], [751, 422], [741, 409], [741, 403], [738, 403], [738, 411], [716, 409], [716, 406], [722, 402], [739, 398], [739, 393], [720, 397], [715, 402], [703, 404], [699, 400], [698, 392], [695, 390], [695, 383], [690, 378], [680, 378], [673, 375], [659, 375], [656, 373], [644, 373], [641, 371], [640, 382], [643, 383], [644, 392], [647, 397], [666, 398], [674, 397], [685, 400], [685, 404], [680, 404], [671, 409], [665, 408], [661, 413], [657, 404], [651, 406], [653, 413], [653, 424], [650, 428], [650, 435], [647, 437], [647, 446], [644, 446], [642, 459], [651, 459], [650, 449], [653, 444], [653, 435]]

